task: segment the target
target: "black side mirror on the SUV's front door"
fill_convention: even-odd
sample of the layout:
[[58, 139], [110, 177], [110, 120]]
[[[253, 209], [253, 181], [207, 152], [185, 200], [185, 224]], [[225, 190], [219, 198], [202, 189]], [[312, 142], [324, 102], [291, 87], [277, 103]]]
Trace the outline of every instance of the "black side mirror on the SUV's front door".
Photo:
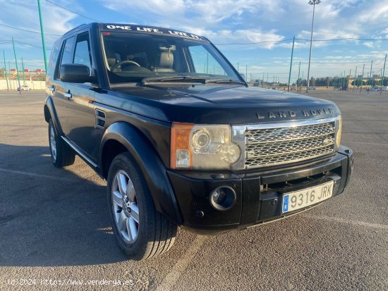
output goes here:
[[95, 82], [95, 77], [90, 75], [89, 67], [78, 63], [65, 63], [59, 70], [62, 82], [86, 83]]

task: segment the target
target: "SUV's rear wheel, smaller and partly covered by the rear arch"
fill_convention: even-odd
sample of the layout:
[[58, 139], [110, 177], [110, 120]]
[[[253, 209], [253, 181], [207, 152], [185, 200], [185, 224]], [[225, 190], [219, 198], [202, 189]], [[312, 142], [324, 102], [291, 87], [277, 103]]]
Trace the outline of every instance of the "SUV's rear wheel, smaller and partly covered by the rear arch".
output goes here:
[[51, 162], [56, 168], [73, 165], [75, 153], [73, 149], [59, 137], [52, 119], [49, 120], [49, 147]]

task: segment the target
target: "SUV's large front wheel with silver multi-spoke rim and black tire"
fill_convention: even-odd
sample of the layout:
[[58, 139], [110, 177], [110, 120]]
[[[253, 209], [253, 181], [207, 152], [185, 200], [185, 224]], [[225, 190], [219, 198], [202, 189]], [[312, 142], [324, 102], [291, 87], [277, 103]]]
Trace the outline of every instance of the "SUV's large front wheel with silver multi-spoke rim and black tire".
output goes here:
[[111, 163], [107, 199], [114, 237], [128, 258], [149, 259], [172, 247], [177, 226], [155, 209], [140, 168], [128, 152]]

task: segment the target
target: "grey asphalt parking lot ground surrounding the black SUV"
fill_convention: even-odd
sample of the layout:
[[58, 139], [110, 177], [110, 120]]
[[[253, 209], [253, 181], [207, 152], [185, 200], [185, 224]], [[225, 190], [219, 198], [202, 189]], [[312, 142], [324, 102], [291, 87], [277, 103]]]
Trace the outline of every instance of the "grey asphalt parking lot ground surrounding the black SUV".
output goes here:
[[0, 290], [388, 290], [388, 93], [310, 95], [344, 117], [356, 161], [344, 194], [248, 230], [179, 229], [169, 252], [138, 262], [116, 247], [106, 182], [79, 158], [51, 165], [44, 92], [0, 92]]

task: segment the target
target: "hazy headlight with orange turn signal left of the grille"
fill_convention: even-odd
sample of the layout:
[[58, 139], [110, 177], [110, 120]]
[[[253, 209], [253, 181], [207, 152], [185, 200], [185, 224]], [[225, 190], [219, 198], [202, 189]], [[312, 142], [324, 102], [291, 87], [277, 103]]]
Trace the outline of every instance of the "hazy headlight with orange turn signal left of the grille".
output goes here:
[[172, 125], [171, 168], [229, 169], [240, 154], [229, 125]]

